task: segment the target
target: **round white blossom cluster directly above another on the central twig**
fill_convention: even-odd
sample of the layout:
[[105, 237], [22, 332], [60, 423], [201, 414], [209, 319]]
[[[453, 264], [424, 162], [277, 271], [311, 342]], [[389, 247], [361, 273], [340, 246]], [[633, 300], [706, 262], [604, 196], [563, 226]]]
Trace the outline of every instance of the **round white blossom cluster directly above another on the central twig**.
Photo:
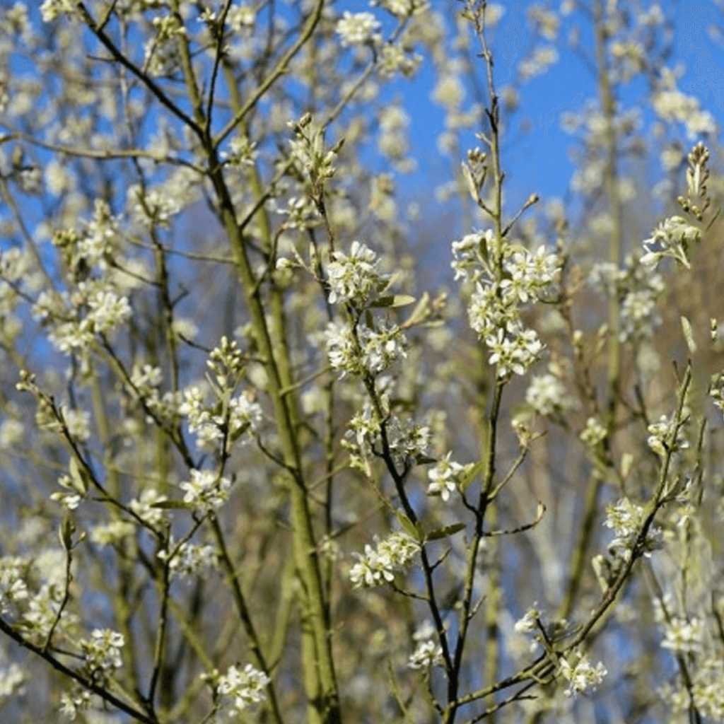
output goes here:
[[329, 302], [349, 302], [361, 309], [387, 287], [389, 277], [380, 274], [379, 258], [365, 244], [355, 240], [349, 255], [334, 252], [334, 261], [327, 266]]

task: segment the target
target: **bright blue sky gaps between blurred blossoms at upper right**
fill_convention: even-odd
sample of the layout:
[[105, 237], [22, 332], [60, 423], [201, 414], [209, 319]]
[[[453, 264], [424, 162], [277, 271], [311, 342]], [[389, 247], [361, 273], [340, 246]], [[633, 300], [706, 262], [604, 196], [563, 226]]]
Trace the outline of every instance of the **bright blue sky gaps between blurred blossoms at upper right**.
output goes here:
[[[530, 0], [518, 2], [509, 9], [508, 20], [517, 14], [522, 19], [526, 9], [534, 4]], [[686, 74], [681, 77], [678, 88], [699, 98], [703, 109], [711, 111], [719, 119], [724, 119], [724, 41], [717, 38], [716, 28], [724, 28], [724, 15], [708, 0], [695, 2], [660, 1], [660, 7], [666, 17], [672, 17], [674, 25], [673, 56], [667, 64], [676, 62], [686, 64]], [[647, 4], [651, 7], [653, 3]], [[434, 0], [433, 6], [440, 12], [460, 12], [462, 4], [453, 0]], [[349, 7], [355, 12], [368, 10], [366, 2], [342, 3], [340, 9]], [[376, 14], [382, 14], [374, 9]], [[584, 102], [597, 98], [597, 88], [592, 72], [586, 68], [586, 62], [580, 56], [567, 49], [565, 37], [568, 35], [574, 17], [563, 18], [559, 41], [555, 43], [559, 59], [546, 75], [536, 77], [525, 85], [518, 85], [520, 106], [513, 116], [505, 117], [509, 132], [503, 147], [503, 164], [508, 172], [507, 187], [510, 201], [521, 203], [532, 192], [539, 193], [543, 199], [562, 196], [568, 188], [574, 166], [568, 158], [568, 150], [575, 140], [565, 133], [560, 122], [566, 112], [581, 109]], [[508, 22], [506, 17], [500, 21], [499, 32], [503, 34]], [[581, 18], [578, 17], [580, 21]], [[593, 56], [593, 40], [590, 25], [586, 21], [581, 25], [581, 46], [589, 57]], [[523, 30], [523, 42], [531, 38], [529, 29]], [[493, 36], [494, 38], [494, 36]], [[497, 88], [505, 85], [510, 62], [519, 62], [523, 43], [510, 49], [507, 56], [501, 47], [495, 45], [498, 52], [496, 67]], [[481, 75], [482, 75], [482, 61]], [[400, 191], [415, 196], [417, 193], [429, 195], [434, 185], [450, 178], [450, 159], [443, 159], [437, 151], [437, 136], [444, 128], [442, 109], [434, 106], [430, 100], [434, 77], [432, 62], [425, 59], [418, 77], [413, 83], [400, 82], [390, 93], [403, 93], [406, 108], [412, 116], [411, 155], [418, 160], [418, 170], [406, 180], [400, 179]], [[623, 108], [636, 106], [639, 94], [646, 91], [642, 79], [631, 83], [621, 96]], [[643, 108], [644, 122], [652, 120], [650, 108]], [[691, 145], [681, 130], [683, 143]], [[471, 146], [474, 145], [471, 136]]]

